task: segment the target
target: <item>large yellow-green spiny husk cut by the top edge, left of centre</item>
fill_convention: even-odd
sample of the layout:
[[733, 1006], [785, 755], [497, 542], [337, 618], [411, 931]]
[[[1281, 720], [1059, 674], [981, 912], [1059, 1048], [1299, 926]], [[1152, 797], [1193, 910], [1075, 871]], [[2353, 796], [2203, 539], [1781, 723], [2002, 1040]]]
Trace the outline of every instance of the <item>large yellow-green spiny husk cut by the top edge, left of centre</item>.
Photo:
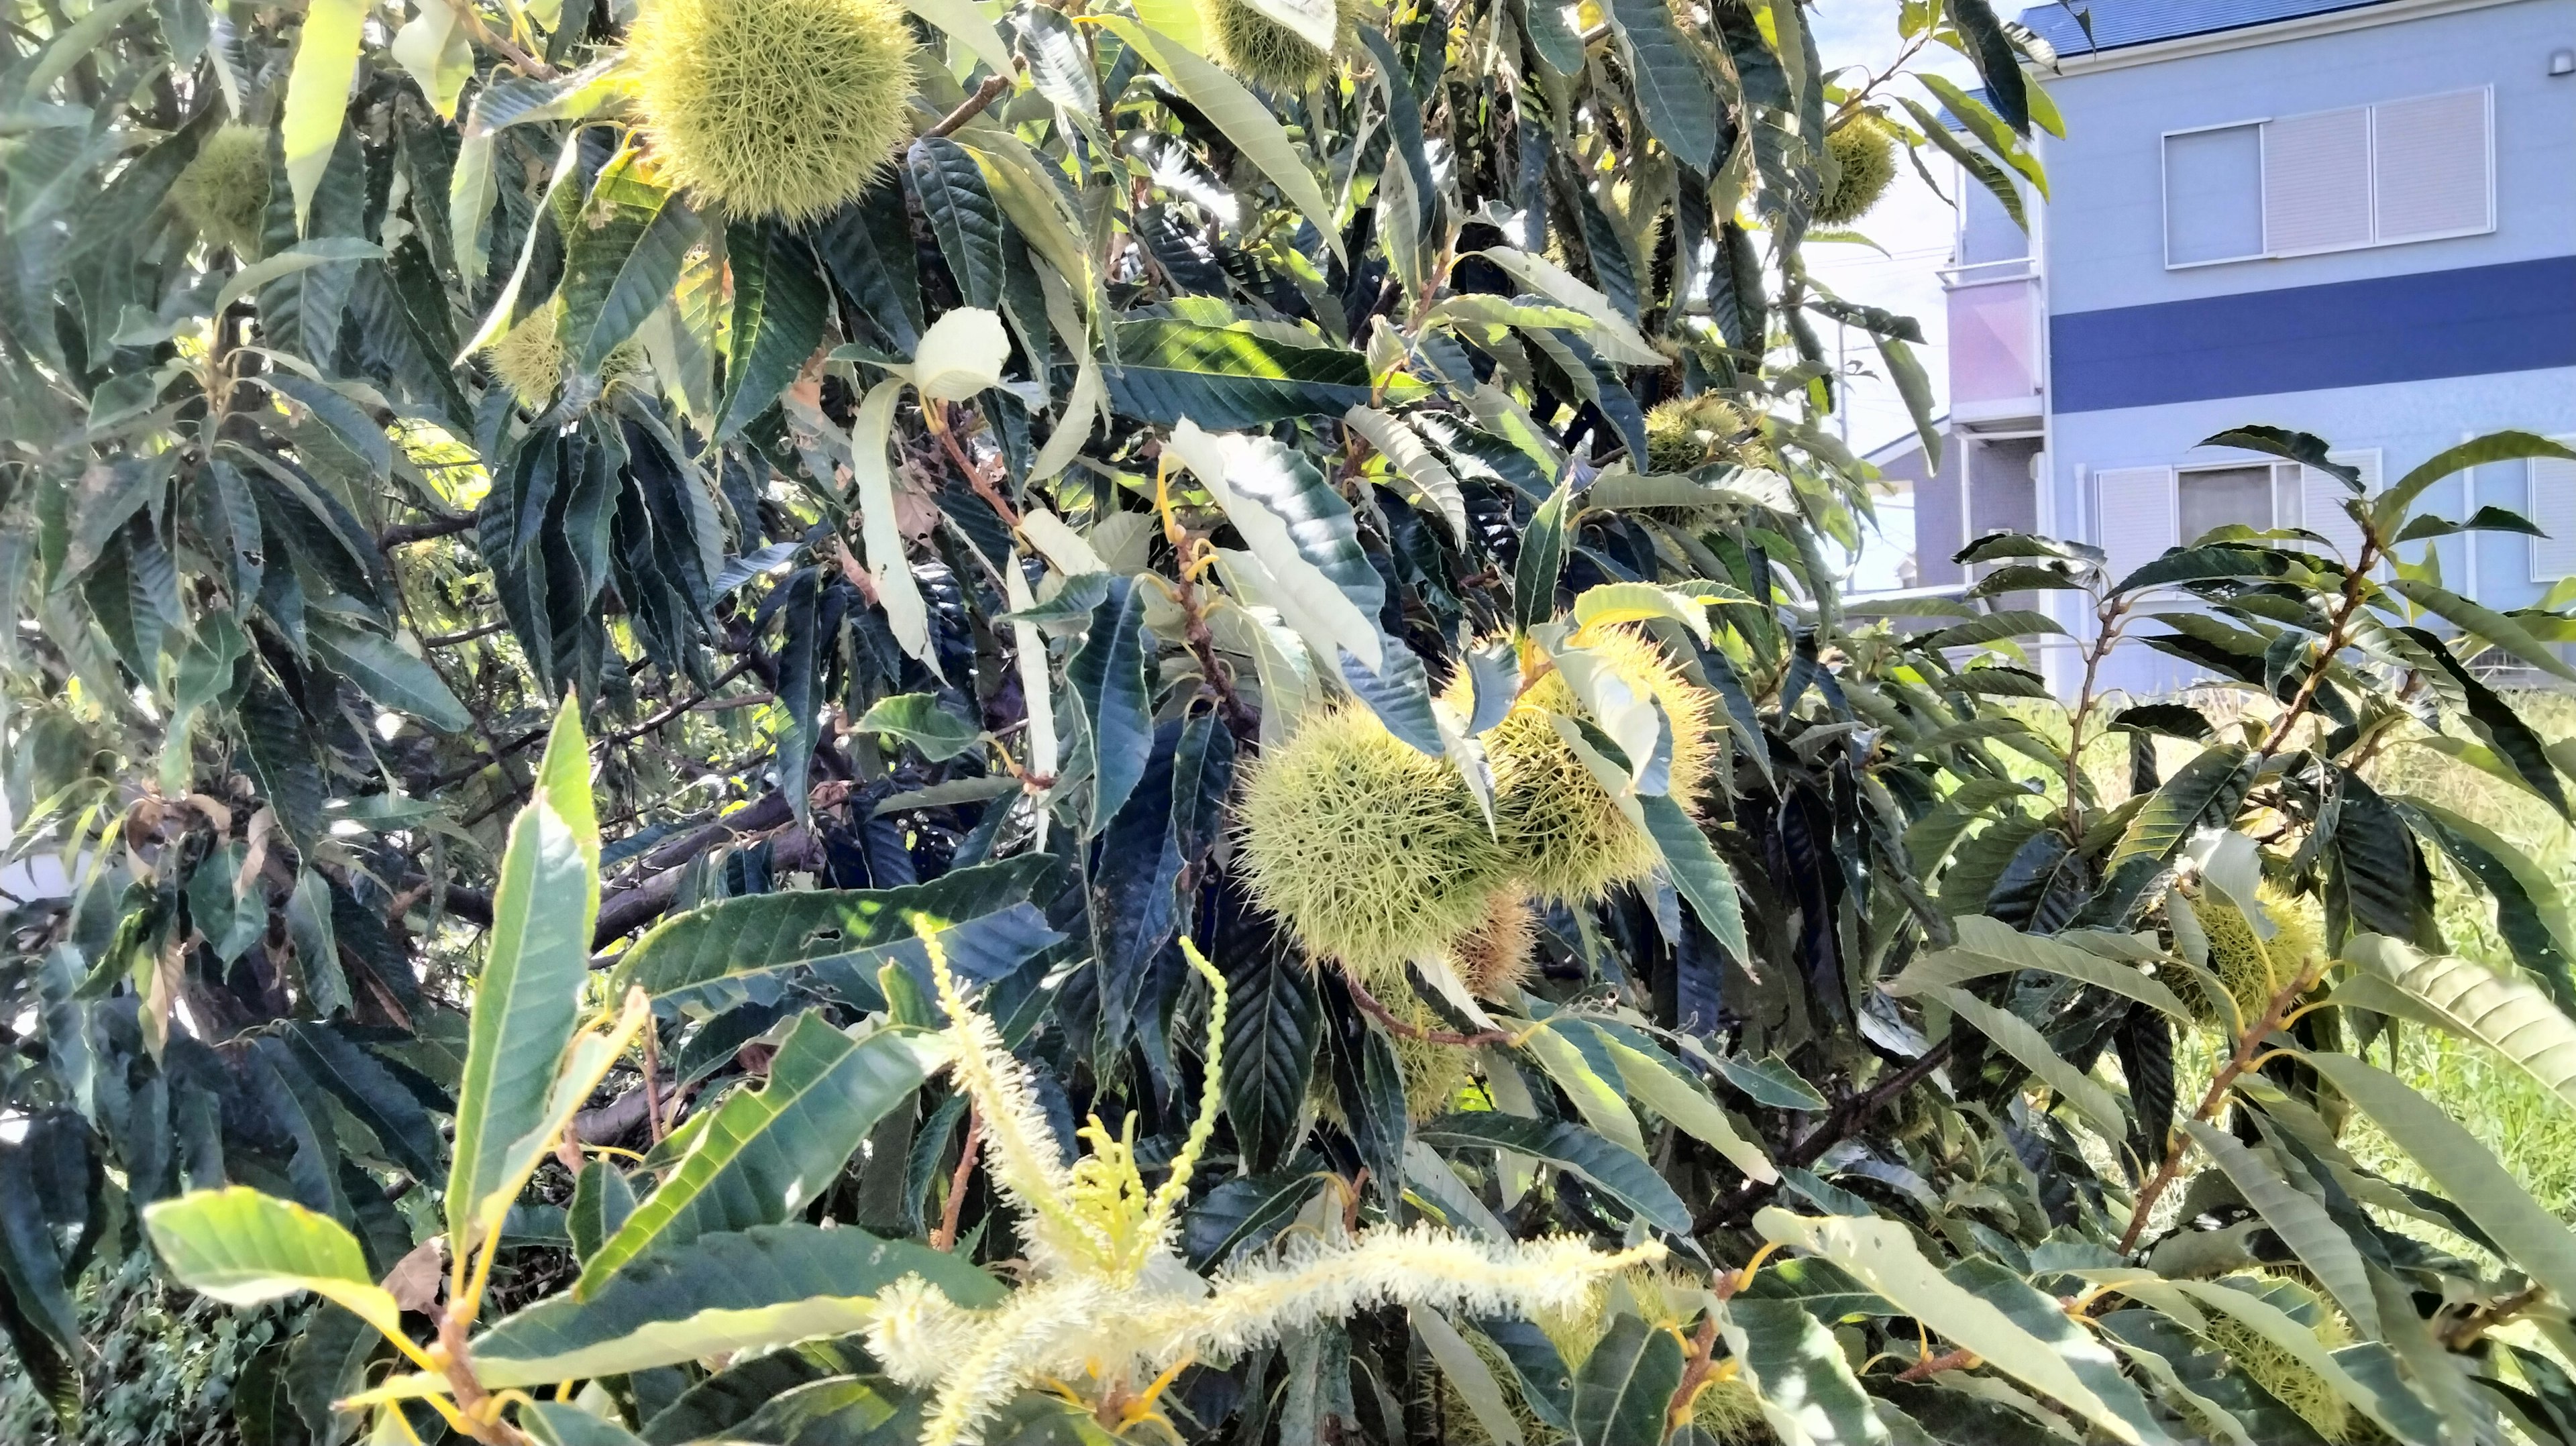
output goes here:
[[786, 222], [855, 198], [894, 157], [917, 49], [894, 0], [647, 0], [626, 31], [662, 178]]

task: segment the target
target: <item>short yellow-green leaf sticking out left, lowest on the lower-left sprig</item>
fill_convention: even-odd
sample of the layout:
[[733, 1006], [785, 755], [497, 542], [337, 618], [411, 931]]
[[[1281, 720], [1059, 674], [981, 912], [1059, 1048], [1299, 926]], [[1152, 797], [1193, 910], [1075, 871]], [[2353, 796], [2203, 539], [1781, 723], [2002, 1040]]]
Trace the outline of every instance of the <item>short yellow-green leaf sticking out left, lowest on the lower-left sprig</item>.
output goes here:
[[376, 1330], [402, 1335], [402, 1307], [366, 1273], [358, 1237], [327, 1214], [227, 1186], [144, 1206], [144, 1229], [170, 1276], [191, 1291], [224, 1304], [314, 1291]]

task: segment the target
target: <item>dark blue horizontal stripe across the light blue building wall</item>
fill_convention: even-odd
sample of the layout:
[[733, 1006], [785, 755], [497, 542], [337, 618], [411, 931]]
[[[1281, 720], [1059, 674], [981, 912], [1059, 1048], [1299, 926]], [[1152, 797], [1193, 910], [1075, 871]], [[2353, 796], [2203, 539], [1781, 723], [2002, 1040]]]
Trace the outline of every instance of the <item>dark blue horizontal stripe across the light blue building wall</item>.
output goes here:
[[2058, 412], [2576, 366], [2576, 255], [2048, 320]]

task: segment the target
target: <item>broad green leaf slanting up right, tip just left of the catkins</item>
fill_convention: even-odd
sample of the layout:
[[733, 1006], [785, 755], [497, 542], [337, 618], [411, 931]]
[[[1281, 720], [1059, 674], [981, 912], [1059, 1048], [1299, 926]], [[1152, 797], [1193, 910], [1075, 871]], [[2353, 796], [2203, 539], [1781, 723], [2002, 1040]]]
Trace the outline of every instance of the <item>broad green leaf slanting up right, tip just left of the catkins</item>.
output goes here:
[[582, 1266], [574, 1294], [595, 1297], [647, 1248], [778, 1224], [814, 1204], [868, 1129], [920, 1088], [927, 1049], [896, 1031], [853, 1041], [822, 1013], [799, 1016], [768, 1083], [716, 1106], [662, 1188]]

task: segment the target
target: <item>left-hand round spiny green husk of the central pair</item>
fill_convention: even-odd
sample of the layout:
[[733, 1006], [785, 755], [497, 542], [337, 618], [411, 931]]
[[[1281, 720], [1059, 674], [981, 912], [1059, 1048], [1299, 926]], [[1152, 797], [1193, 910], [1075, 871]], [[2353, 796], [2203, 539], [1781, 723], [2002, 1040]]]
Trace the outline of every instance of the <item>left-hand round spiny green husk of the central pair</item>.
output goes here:
[[1448, 760], [1368, 709], [1314, 714], [1252, 766], [1236, 809], [1252, 900], [1373, 995], [1486, 915], [1507, 861]]

